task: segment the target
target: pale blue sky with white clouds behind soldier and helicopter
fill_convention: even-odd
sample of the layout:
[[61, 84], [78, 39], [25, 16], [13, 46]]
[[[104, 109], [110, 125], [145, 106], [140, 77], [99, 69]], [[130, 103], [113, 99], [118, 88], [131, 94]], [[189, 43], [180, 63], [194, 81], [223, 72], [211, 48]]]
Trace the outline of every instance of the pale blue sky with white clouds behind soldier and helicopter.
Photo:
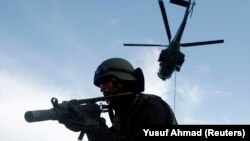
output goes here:
[[[76, 139], [57, 121], [27, 123], [24, 113], [51, 108], [52, 97], [101, 96], [94, 71], [111, 57], [142, 68], [145, 93], [167, 101], [180, 124], [249, 124], [250, 1], [196, 3], [182, 42], [225, 42], [181, 48], [186, 60], [175, 86], [175, 74], [166, 81], [157, 76], [163, 48], [123, 47], [168, 44], [157, 0], [0, 0], [1, 140]], [[174, 36], [185, 9], [164, 4]]]

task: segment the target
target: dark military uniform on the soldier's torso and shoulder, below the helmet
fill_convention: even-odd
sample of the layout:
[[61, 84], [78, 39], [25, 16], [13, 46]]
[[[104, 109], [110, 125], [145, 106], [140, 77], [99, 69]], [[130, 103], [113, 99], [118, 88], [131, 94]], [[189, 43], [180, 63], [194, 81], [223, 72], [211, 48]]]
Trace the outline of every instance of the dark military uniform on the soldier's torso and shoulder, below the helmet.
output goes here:
[[112, 127], [87, 133], [89, 141], [141, 141], [142, 127], [177, 124], [169, 105], [156, 95], [129, 95], [117, 103]]

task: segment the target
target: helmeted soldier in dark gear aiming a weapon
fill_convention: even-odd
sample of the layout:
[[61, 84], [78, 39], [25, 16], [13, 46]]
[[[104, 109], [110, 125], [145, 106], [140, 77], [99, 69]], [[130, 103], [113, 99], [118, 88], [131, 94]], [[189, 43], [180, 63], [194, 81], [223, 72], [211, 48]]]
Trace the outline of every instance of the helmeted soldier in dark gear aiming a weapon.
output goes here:
[[[144, 75], [125, 59], [110, 58], [102, 62], [94, 76], [94, 84], [104, 96], [115, 96], [107, 100], [112, 126], [108, 127], [103, 118], [95, 117], [64, 122], [72, 131], [84, 128], [89, 141], [139, 141], [141, 127], [148, 125], [175, 125], [176, 118], [170, 106], [159, 96], [144, 94]], [[120, 96], [119, 96], [120, 95]], [[71, 122], [72, 123], [72, 122]]]

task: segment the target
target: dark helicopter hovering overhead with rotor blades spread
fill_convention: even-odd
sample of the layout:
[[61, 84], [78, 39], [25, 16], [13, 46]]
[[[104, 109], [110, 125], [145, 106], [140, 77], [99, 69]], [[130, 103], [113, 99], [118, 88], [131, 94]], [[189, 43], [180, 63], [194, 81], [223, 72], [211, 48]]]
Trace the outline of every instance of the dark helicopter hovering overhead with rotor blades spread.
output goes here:
[[184, 32], [187, 19], [189, 14], [193, 12], [195, 1], [185, 1], [185, 0], [170, 0], [170, 3], [186, 7], [186, 11], [183, 17], [183, 20], [176, 32], [176, 35], [173, 39], [171, 39], [171, 32], [168, 24], [167, 14], [165, 11], [164, 3], [162, 0], [158, 1], [161, 14], [163, 17], [163, 22], [165, 25], [165, 29], [168, 36], [169, 45], [161, 45], [161, 44], [123, 44], [124, 46], [147, 46], [147, 47], [167, 47], [163, 49], [159, 55], [159, 71], [158, 76], [162, 80], [166, 80], [171, 77], [174, 71], [179, 72], [181, 66], [185, 61], [185, 54], [180, 51], [180, 47], [190, 47], [190, 46], [199, 46], [199, 45], [208, 45], [208, 44], [217, 44], [223, 43], [224, 40], [210, 40], [210, 41], [202, 41], [202, 42], [191, 42], [191, 43], [181, 43], [182, 34]]

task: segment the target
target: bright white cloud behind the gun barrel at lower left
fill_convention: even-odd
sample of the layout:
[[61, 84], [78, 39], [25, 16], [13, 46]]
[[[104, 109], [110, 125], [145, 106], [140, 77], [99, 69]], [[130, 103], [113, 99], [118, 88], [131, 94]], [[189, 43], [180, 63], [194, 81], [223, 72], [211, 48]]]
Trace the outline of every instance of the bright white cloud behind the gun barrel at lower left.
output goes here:
[[[52, 96], [68, 99], [71, 90], [31, 81], [0, 70], [0, 136], [3, 140], [71, 140], [77, 135], [69, 132], [56, 121], [27, 123], [24, 113], [29, 110], [52, 108]], [[13, 136], [15, 134], [15, 136]], [[26, 136], [23, 136], [26, 135]], [[62, 136], [63, 135], [63, 136]]]

